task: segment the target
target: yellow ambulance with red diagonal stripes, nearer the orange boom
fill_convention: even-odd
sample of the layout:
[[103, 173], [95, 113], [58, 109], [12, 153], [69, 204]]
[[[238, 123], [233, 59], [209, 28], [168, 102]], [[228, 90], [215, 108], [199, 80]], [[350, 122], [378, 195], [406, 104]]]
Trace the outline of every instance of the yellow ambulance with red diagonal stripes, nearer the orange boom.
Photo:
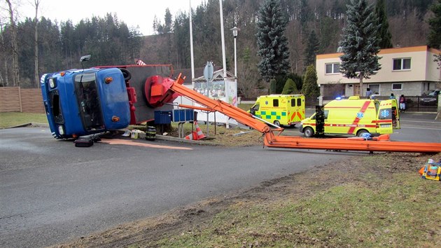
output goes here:
[[[358, 96], [349, 99], [332, 100], [324, 106], [324, 134], [370, 135], [391, 134], [400, 129], [400, 116], [397, 101], [388, 99], [379, 102], [376, 99], [360, 99]], [[300, 132], [305, 137], [316, 133], [316, 113], [302, 120]]]

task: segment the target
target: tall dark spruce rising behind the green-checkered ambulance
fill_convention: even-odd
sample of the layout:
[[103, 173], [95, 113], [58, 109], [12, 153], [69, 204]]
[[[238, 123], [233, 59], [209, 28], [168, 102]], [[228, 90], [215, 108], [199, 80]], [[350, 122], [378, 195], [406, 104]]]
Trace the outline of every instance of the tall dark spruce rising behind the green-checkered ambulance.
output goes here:
[[266, 0], [259, 9], [256, 34], [260, 76], [270, 81], [290, 69], [288, 39], [285, 36], [288, 20], [281, 10], [280, 0]]

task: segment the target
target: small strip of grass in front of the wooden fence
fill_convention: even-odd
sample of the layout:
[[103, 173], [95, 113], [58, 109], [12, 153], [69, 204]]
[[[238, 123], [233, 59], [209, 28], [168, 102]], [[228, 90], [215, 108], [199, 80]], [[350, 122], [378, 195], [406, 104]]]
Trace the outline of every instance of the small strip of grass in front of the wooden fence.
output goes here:
[[48, 123], [45, 113], [0, 113], [0, 128], [10, 128], [25, 123]]

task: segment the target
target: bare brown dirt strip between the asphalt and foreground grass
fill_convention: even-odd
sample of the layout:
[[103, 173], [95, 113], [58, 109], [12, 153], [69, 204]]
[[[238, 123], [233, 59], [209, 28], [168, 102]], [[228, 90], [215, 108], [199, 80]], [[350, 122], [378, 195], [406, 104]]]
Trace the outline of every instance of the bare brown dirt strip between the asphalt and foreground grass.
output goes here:
[[[365, 158], [369, 156], [370, 158]], [[394, 172], [415, 172], [416, 177], [421, 165], [428, 158], [440, 158], [441, 154], [427, 155], [420, 153], [374, 153], [373, 155], [349, 157], [339, 163], [314, 168], [321, 173], [302, 172], [286, 177], [263, 181], [260, 185], [228, 195], [196, 202], [167, 212], [160, 216], [125, 223], [102, 233], [93, 233], [86, 237], [56, 247], [154, 247], [156, 240], [171, 235], [186, 233], [195, 226], [209, 225], [211, 219], [230, 205], [262, 203], [286, 198], [304, 198], [332, 186], [350, 183], [357, 180], [356, 175], [365, 173], [388, 177]], [[399, 159], [400, 163], [396, 163]], [[395, 161], [395, 162], [393, 162]]]

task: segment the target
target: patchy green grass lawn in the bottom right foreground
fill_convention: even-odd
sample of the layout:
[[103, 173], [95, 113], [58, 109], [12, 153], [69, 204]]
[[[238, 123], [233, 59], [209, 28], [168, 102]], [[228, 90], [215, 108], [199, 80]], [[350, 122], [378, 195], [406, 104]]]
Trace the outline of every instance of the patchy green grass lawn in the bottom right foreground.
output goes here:
[[195, 226], [153, 246], [437, 247], [439, 184], [414, 172], [387, 179], [369, 174], [309, 197], [241, 202], [214, 216], [207, 226]]

